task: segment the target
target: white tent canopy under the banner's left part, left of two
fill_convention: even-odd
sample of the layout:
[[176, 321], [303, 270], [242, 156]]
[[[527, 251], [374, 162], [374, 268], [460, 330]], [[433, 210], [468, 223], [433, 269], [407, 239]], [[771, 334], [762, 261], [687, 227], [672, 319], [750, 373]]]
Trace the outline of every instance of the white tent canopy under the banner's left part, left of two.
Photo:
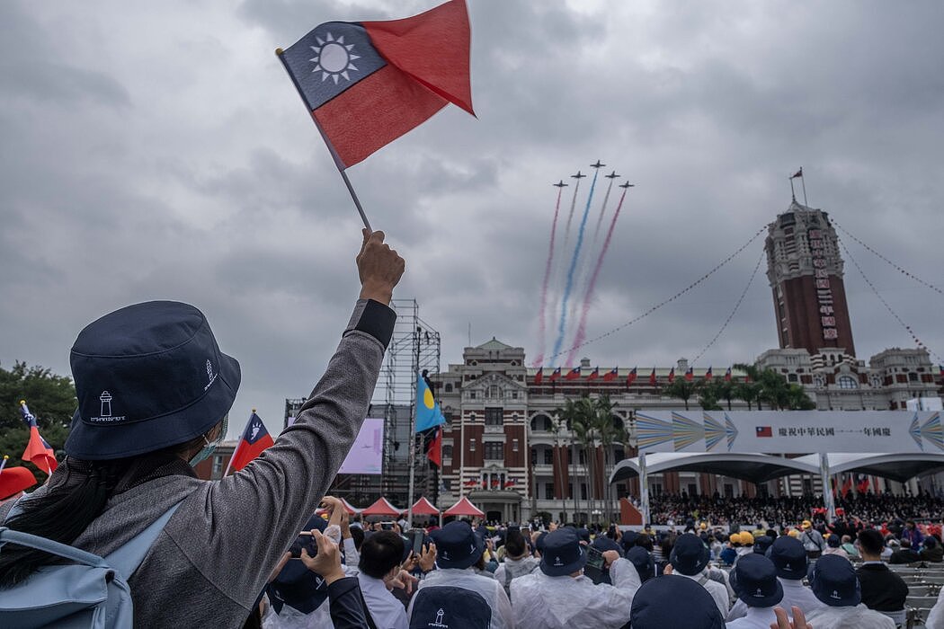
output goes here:
[[[818, 456], [813, 461], [774, 455], [722, 453], [655, 453], [646, 455], [646, 472], [704, 472], [754, 483], [765, 483], [790, 474], [818, 474]], [[944, 464], [942, 464], [944, 465]], [[639, 457], [616, 464], [610, 483], [639, 475]]]

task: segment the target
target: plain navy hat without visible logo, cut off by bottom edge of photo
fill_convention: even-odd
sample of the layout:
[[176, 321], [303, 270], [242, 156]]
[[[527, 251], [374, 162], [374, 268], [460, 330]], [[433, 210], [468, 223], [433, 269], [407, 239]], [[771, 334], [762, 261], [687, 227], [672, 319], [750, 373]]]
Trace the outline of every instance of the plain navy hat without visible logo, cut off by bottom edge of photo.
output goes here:
[[632, 629], [724, 629], [724, 618], [708, 590], [677, 574], [649, 579], [636, 590]]

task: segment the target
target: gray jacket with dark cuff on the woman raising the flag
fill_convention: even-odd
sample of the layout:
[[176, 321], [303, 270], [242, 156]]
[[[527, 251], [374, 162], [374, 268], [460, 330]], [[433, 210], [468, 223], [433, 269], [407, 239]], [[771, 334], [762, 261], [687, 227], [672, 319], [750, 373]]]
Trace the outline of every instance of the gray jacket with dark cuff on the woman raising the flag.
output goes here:
[[220, 481], [164, 476], [128, 489], [76, 539], [107, 555], [183, 501], [129, 580], [135, 626], [243, 625], [361, 428], [395, 319], [387, 306], [359, 301], [295, 424], [243, 471]]

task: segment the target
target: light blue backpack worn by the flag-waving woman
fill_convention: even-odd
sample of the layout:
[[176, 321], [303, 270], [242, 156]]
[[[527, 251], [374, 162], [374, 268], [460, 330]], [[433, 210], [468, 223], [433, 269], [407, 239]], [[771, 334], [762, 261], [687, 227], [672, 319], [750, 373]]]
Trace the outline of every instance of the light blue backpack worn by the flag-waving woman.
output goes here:
[[134, 607], [127, 578], [141, 565], [144, 555], [179, 505], [172, 506], [105, 558], [58, 541], [0, 527], [0, 554], [4, 544], [13, 543], [73, 562], [45, 566], [25, 582], [0, 589], [0, 627], [123, 629], [133, 626]]

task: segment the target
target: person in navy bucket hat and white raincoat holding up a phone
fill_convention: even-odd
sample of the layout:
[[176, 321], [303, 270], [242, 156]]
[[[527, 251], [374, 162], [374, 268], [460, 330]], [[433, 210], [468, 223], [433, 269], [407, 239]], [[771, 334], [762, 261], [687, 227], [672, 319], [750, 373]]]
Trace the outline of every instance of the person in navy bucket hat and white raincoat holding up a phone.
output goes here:
[[616, 551], [606, 551], [612, 586], [594, 585], [583, 576], [586, 549], [576, 531], [558, 529], [544, 540], [540, 570], [512, 581], [514, 617], [522, 629], [618, 629], [630, 620], [639, 589], [635, 566]]

